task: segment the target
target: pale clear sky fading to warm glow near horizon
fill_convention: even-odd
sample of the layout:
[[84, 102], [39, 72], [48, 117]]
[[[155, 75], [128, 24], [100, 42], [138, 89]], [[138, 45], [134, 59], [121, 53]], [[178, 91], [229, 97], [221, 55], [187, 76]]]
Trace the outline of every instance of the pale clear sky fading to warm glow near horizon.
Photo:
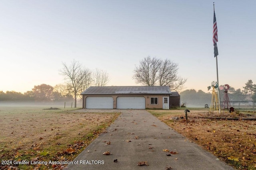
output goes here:
[[212, 81], [256, 84], [256, 1], [215, 0], [218, 62], [210, 0], [1, 0], [0, 91], [64, 83], [62, 63], [104, 70], [108, 86], [132, 79], [145, 57], [170, 59], [185, 89]]

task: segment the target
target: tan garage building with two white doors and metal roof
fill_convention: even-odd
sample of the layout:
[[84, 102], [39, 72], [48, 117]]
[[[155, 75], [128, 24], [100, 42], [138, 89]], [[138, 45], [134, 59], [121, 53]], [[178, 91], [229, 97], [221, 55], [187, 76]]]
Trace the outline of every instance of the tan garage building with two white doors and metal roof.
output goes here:
[[81, 93], [86, 109], [169, 109], [168, 86], [89, 87]]

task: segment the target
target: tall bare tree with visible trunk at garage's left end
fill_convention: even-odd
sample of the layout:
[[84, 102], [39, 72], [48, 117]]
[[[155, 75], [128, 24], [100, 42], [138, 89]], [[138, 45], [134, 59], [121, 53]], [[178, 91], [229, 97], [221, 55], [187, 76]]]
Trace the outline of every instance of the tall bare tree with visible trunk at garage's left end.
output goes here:
[[83, 72], [82, 64], [80, 64], [78, 61], [73, 60], [69, 66], [65, 63], [62, 63], [62, 65], [63, 68], [62, 70], [60, 70], [60, 74], [64, 76], [67, 87], [69, 87], [70, 92], [74, 94], [74, 107], [76, 107], [76, 99], [79, 95], [79, 92], [81, 92], [82, 90], [82, 83], [84, 82], [85, 76], [85, 74], [81, 75], [81, 73]]

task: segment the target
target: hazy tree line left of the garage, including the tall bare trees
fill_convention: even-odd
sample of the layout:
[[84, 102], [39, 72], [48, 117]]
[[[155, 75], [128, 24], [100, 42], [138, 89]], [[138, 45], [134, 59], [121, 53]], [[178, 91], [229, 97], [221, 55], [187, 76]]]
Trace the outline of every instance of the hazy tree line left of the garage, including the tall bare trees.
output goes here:
[[60, 74], [66, 80], [64, 84], [50, 86], [40, 84], [25, 93], [15, 91], [0, 91], [0, 101], [6, 102], [69, 102], [76, 101], [78, 96], [89, 86], [106, 86], [109, 76], [106, 71], [96, 68], [90, 70], [73, 60], [70, 65], [62, 63]]

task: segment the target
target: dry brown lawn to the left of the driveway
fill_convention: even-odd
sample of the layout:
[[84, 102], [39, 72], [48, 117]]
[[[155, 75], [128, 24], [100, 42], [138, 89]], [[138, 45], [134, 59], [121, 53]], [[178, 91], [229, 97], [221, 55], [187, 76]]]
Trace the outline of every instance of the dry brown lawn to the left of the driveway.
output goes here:
[[[42, 108], [1, 109], [0, 160], [72, 160], [119, 114]], [[20, 165], [18, 168], [64, 167], [35, 166]], [[10, 167], [16, 168], [16, 165], [0, 164], [0, 169]]]

